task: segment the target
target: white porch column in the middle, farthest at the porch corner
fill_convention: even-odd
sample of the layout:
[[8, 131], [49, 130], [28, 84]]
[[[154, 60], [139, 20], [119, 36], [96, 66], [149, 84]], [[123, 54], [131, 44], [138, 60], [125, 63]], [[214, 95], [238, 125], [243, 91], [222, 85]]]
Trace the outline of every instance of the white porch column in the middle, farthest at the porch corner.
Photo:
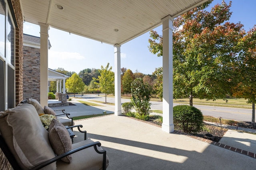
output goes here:
[[115, 57], [115, 115], [122, 115], [121, 110], [121, 45], [114, 45]]

